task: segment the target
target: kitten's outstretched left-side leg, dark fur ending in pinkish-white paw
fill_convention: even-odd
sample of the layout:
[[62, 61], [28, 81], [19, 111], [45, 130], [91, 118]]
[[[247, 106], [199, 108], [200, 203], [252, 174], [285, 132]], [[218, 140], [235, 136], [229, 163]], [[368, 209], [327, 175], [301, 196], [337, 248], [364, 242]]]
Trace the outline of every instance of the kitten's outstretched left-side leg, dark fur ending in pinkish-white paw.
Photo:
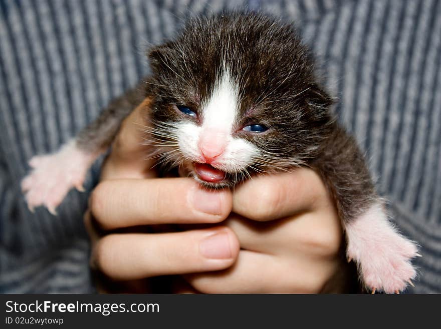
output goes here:
[[124, 118], [146, 96], [144, 83], [113, 100], [98, 118], [79, 135], [52, 154], [35, 156], [29, 161], [32, 171], [22, 180], [28, 207], [46, 206], [56, 215], [57, 206], [69, 190], [84, 191], [83, 183], [90, 166], [112, 143]]

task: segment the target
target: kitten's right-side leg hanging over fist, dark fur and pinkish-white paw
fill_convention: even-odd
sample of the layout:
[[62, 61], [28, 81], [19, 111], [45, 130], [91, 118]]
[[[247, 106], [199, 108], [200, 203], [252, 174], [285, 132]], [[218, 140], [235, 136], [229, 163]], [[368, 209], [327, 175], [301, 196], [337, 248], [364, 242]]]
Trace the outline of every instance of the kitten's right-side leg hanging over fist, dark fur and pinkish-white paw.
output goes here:
[[417, 247], [390, 223], [355, 140], [334, 124], [313, 166], [334, 197], [361, 283], [387, 293], [405, 289], [416, 276], [410, 260]]

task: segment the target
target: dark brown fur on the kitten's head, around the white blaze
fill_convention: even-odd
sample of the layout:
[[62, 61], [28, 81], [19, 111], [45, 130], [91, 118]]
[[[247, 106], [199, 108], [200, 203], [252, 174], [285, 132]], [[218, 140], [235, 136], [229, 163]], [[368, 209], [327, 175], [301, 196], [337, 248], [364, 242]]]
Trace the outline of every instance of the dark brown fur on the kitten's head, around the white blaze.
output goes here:
[[240, 85], [236, 128], [251, 123], [271, 127], [264, 134], [241, 137], [276, 156], [279, 166], [314, 158], [311, 148], [329, 134], [330, 98], [320, 89], [313, 58], [291, 25], [255, 14], [194, 20], [148, 57], [155, 121], [175, 120], [170, 104], [199, 112], [227, 63]]

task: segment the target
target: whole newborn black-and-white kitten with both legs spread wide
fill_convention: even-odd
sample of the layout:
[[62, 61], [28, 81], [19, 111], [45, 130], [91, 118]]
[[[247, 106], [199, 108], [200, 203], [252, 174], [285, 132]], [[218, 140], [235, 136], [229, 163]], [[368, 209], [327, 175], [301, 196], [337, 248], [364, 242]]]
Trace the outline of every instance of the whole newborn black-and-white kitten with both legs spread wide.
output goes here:
[[196, 19], [148, 58], [151, 76], [60, 151], [31, 159], [22, 182], [31, 210], [45, 205], [55, 213], [70, 188], [82, 190], [121, 121], [151, 97], [148, 135], [163, 170], [178, 167], [208, 188], [223, 188], [254, 174], [311, 167], [335, 200], [362, 283], [387, 293], [411, 284], [417, 248], [389, 222], [293, 26], [258, 14]]

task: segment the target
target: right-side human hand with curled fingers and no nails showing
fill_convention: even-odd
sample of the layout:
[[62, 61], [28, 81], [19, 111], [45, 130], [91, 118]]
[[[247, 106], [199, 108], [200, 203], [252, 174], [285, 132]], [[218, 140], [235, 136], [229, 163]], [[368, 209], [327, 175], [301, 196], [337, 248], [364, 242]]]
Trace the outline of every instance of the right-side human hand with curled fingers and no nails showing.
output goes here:
[[[334, 202], [311, 169], [257, 176], [233, 193], [224, 222], [241, 251], [226, 270], [185, 275], [204, 293], [318, 293], [357, 289]], [[185, 290], [183, 290], [185, 291]]]

